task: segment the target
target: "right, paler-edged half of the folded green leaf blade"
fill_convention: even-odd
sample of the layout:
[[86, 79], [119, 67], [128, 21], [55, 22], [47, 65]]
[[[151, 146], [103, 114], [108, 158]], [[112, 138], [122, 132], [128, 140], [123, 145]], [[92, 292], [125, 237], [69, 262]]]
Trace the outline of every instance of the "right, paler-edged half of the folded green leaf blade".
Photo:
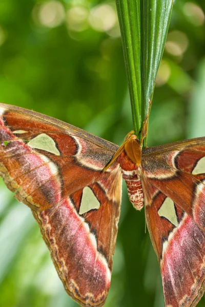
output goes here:
[[141, 53], [144, 118], [152, 100], [155, 79], [167, 38], [173, 0], [142, 0]]

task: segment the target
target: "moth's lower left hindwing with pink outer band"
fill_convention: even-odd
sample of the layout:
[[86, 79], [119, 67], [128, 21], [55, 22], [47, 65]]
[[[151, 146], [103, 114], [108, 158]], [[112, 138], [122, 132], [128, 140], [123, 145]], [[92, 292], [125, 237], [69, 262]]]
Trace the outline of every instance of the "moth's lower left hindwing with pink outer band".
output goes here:
[[[106, 186], [115, 185], [115, 195]], [[88, 189], [85, 190], [85, 189]], [[102, 306], [108, 295], [120, 211], [121, 176], [80, 189], [52, 208], [34, 211], [67, 293], [82, 306]], [[79, 214], [87, 198], [99, 209]], [[88, 204], [90, 205], [90, 203]]]

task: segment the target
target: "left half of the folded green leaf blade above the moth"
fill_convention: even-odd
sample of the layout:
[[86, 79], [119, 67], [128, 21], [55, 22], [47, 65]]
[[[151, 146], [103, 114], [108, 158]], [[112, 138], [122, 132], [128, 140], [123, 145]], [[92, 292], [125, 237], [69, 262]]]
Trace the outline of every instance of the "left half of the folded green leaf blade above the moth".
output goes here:
[[140, 1], [116, 0], [135, 133], [142, 123]]

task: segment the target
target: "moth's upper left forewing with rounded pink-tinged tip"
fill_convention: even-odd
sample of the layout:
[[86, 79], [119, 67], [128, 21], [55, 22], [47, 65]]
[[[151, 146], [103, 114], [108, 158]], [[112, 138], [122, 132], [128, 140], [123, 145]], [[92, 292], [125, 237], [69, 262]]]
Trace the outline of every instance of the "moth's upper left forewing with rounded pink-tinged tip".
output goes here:
[[15, 197], [32, 209], [48, 209], [102, 178], [101, 170], [118, 148], [20, 107], [0, 104], [0, 115], [0, 171]]

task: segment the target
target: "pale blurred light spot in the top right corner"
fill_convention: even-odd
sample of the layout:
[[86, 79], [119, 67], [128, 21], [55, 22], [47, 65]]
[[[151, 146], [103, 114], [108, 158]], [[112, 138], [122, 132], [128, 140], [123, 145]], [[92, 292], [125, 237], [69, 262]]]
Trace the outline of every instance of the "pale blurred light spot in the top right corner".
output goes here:
[[183, 13], [194, 26], [202, 26], [204, 24], [204, 13], [197, 4], [193, 2], [187, 2], [183, 6]]

